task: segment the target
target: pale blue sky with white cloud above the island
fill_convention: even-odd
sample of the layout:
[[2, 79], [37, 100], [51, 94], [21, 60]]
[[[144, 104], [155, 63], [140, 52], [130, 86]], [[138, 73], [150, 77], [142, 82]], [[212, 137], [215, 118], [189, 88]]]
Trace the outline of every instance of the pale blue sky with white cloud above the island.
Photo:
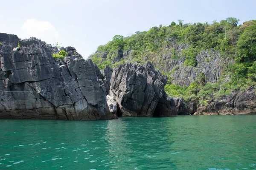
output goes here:
[[0, 32], [75, 47], [84, 58], [99, 45], [172, 21], [256, 20], [256, 0], [0, 0]]

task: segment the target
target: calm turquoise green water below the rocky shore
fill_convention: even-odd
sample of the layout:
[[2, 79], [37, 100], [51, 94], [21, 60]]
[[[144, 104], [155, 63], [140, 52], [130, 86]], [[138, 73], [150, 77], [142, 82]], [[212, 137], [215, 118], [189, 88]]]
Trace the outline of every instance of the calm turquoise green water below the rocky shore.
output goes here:
[[256, 170], [256, 115], [0, 120], [0, 169]]

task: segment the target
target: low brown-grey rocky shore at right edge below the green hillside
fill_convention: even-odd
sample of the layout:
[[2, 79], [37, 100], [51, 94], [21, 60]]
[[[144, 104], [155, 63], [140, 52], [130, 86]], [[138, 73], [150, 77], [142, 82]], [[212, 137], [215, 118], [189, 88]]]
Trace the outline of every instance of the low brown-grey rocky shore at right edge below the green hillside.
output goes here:
[[234, 91], [224, 99], [204, 106], [198, 104], [195, 114], [256, 114], [256, 95], [254, 88]]

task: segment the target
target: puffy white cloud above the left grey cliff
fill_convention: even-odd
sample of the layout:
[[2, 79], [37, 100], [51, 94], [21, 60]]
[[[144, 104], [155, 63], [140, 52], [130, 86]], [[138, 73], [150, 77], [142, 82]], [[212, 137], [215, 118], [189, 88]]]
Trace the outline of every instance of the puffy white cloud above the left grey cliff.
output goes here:
[[36, 19], [26, 20], [23, 23], [21, 30], [21, 38], [36, 37], [50, 44], [58, 42], [61, 37], [51, 23], [47, 21], [38, 21]]

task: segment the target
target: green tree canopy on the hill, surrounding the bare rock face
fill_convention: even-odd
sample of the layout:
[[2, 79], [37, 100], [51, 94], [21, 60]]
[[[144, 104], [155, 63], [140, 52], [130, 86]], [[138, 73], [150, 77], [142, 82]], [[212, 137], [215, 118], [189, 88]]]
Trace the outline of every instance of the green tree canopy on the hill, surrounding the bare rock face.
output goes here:
[[[112, 41], [100, 45], [91, 58], [100, 68], [112, 65], [111, 57], [117, 50], [123, 53], [132, 50], [133, 53], [129, 59], [131, 62], [153, 61], [154, 56], [164, 55], [166, 49], [169, 49], [172, 59], [178, 59], [179, 55], [174, 46], [187, 45], [188, 48], [181, 50], [181, 54], [185, 56], [183, 65], [195, 67], [198, 65], [196, 56], [200, 51], [218, 51], [221, 57], [235, 60], [233, 65], [227, 65], [227, 69], [224, 70], [224, 75], [231, 77], [228, 82], [230, 83], [229, 89], [234, 90], [241, 88], [242, 85], [254, 85], [256, 82], [256, 20], [246, 21], [241, 25], [238, 23], [239, 19], [234, 17], [228, 17], [220, 22], [213, 21], [212, 24], [184, 24], [183, 20], [178, 20], [178, 24], [171, 22], [169, 26], [160, 25], [152, 27], [148, 31], [136, 31], [130, 37], [115, 35]], [[104, 53], [107, 54], [107, 58], [100, 57]], [[159, 58], [161, 59], [161, 57]], [[155, 66], [161, 70], [163, 68], [161, 65], [163, 62], [159, 60]], [[161, 71], [163, 74], [167, 74], [166, 71]], [[235, 87], [236, 83], [240, 86]], [[197, 87], [195, 83], [192, 86]], [[205, 85], [201, 84], [200, 86]], [[183, 88], [187, 89], [191, 95], [201, 94], [198, 88], [194, 91], [192, 87], [177, 88], [176, 85], [169, 85], [169, 87], [179, 89], [178, 91]], [[207, 86], [207, 88], [209, 87], [210, 85]], [[228, 88], [223, 89], [227, 91]]]

